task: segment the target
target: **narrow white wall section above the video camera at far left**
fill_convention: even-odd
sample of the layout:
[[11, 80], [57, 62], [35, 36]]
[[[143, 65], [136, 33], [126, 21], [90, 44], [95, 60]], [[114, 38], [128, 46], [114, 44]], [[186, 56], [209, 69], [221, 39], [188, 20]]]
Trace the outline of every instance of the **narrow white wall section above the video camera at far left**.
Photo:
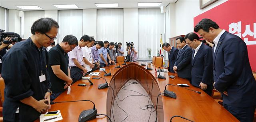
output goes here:
[[[9, 10], [9, 29], [8, 32], [15, 32], [17, 34], [20, 34], [20, 16], [19, 16], [19, 10], [16, 9], [10, 9]], [[21, 34], [20, 34], [21, 35]]]

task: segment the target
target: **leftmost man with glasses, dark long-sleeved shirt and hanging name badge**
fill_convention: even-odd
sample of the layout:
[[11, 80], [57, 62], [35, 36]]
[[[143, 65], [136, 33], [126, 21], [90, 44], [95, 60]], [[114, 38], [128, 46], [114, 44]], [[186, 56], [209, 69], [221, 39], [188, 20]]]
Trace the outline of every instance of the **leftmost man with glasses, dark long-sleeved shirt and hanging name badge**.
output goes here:
[[32, 122], [50, 109], [51, 84], [44, 47], [54, 42], [58, 28], [52, 18], [36, 20], [31, 27], [32, 36], [16, 43], [3, 57], [4, 122]]

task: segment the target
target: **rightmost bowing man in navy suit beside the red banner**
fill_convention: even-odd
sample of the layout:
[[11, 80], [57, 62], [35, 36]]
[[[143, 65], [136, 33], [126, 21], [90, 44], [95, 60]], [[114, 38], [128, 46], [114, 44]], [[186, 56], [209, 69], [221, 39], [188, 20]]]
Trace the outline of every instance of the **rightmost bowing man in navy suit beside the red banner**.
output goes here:
[[256, 108], [256, 81], [245, 42], [220, 29], [210, 19], [202, 19], [194, 31], [214, 42], [214, 88], [224, 94], [223, 106], [241, 122], [252, 122]]

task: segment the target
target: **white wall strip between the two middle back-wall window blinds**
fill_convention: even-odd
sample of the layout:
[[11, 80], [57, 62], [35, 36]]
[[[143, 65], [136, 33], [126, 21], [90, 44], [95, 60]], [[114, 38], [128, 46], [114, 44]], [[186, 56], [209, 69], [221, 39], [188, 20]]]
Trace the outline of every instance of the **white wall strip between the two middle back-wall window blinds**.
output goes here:
[[97, 40], [97, 9], [83, 10], [83, 34], [94, 36]]

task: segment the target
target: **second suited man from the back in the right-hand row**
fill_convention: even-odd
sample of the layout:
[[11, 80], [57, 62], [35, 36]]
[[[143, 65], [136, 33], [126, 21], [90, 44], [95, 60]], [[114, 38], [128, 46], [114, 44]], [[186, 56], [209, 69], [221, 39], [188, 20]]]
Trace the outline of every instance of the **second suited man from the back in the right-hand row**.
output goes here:
[[180, 48], [177, 60], [174, 63], [173, 70], [178, 72], [180, 78], [186, 78], [191, 82], [191, 56], [192, 49], [186, 44], [183, 37], [176, 39], [177, 45]]

